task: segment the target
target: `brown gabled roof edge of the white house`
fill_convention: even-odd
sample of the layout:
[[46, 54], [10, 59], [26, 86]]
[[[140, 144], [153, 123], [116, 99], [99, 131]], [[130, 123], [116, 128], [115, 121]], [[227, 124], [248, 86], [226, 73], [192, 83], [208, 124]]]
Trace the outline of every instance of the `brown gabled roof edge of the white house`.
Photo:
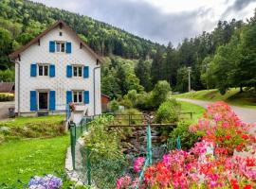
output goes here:
[[44, 37], [49, 31], [51, 31], [52, 29], [54, 29], [56, 26], [64, 26], [75, 38], [77, 38], [79, 40], [80, 43], [82, 43], [82, 46], [84, 46], [86, 48], [86, 50], [88, 50], [93, 57], [95, 57], [97, 60], [99, 60], [101, 63], [103, 62], [101, 56], [99, 56], [98, 54], [96, 54], [86, 43], [82, 42], [81, 38], [77, 35], [77, 33], [69, 26], [67, 26], [64, 21], [60, 20], [58, 22], [56, 22], [54, 25], [49, 26], [45, 31], [43, 31], [41, 34], [39, 34], [37, 37], [35, 37], [34, 39], [32, 39], [29, 43], [27, 43], [26, 45], [20, 47], [18, 50], [14, 51], [13, 53], [9, 54], [9, 59], [10, 60], [15, 60], [19, 57], [19, 54], [24, 52], [29, 46], [31, 46], [34, 43], [38, 43], [38, 41]]

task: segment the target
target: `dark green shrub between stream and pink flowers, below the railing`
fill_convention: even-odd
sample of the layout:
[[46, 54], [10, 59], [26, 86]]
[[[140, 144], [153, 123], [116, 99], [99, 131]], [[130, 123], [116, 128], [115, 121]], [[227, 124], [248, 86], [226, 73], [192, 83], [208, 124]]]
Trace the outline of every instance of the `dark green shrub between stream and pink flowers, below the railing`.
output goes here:
[[199, 140], [198, 135], [190, 132], [190, 125], [190, 122], [181, 121], [178, 123], [177, 127], [170, 133], [170, 137], [172, 139], [180, 136], [181, 148], [183, 150], [190, 149], [194, 145], [194, 143]]

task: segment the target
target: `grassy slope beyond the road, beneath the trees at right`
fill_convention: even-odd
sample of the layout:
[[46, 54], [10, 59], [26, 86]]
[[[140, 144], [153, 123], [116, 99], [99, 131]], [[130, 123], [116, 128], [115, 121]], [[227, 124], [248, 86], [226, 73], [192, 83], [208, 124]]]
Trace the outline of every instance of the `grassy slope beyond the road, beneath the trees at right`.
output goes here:
[[220, 94], [218, 90], [212, 89], [185, 94], [174, 94], [172, 96], [207, 101], [226, 101], [230, 105], [256, 109], [256, 94], [248, 92], [239, 93], [238, 88], [232, 88], [224, 95]]

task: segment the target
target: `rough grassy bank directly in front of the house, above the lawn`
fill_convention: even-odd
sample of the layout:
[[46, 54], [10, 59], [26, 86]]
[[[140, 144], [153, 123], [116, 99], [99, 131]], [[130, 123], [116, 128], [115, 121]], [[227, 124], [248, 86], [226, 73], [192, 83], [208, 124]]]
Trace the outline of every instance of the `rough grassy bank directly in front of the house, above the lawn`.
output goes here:
[[24, 138], [50, 138], [64, 135], [64, 115], [17, 117], [0, 122], [0, 143]]

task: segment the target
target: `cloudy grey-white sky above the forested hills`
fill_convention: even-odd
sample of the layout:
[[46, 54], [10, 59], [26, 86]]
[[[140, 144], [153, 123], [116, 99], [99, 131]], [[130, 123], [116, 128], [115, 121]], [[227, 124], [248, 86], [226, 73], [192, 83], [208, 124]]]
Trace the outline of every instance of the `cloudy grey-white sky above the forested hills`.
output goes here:
[[256, 0], [33, 0], [117, 26], [153, 42], [174, 45], [219, 20], [250, 18]]

